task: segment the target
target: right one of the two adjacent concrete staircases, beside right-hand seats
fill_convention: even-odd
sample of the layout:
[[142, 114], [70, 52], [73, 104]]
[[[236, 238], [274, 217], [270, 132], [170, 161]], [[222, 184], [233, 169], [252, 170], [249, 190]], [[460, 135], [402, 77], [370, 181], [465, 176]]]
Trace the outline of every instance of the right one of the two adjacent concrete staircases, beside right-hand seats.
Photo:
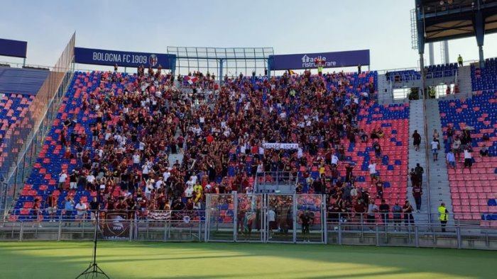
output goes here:
[[[445, 203], [447, 210], [453, 212], [452, 210], [452, 197], [450, 195], [449, 188], [449, 175], [447, 173], [447, 164], [445, 164], [445, 153], [443, 148], [443, 138], [442, 138], [442, 124], [440, 123], [440, 113], [438, 109], [437, 99], [428, 99], [426, 101], [426, 116], [427, 116], [427, 128], [428, 128], [428, 141], [432, 141], [433, 131], [437, 129], [440, 135], [440, 143], [442, 144], [439, 150], [438, 160], [433, 161], [433, 156], [430, 150], [429, 164], [427, 167], [430, 168], [430, 208], [432, 212], [432, 217], [437, 217], [438, 207], [440, 203]], [[428, 148], [431, 149], [431, 144]], [[426, 168], [425, 168], [426, 172]], [[436, 219], [434, 220], [436, 222]], [[454, 215], [449, 215], [449, 224], [453, 224]]]

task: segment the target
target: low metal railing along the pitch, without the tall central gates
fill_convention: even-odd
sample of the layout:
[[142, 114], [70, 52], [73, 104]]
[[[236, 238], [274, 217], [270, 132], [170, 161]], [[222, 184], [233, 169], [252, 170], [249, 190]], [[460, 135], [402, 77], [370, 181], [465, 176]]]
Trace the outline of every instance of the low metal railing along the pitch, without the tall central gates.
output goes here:
[[[153, 219], [149, 212], [146, 215], [148, 217], [141, 218], [140, 211], [135, 210], [101, 212], [97, 237], [126, 241], [204, 241], [206, 235], [214, 233], [203, 218], [186, 218], [188, 213], [185, 214], [185, 210], [153, 212], [162, 217]], [[203, 210], [196, 212], [198, 215], [205, 213]], [[129, 218], [116, 218], [114, 214], [128, 215]], [[97, 222], [90, 216], [70, 219], [62, 216], [54, 222], [4, 222], [0, 224], [0, 241], [91, 241]], [[381, 213], [368, 217], [367, 213], [328, 212], [327, 218], [313, 222], [307, 239], [315, 244], [497, 249], [497, 227], [464, 224], [457, 220], [442, 226], [440, 222], [416, 222], [415, 219], [416, 215], [414, 221], [409, 222], [410, 218], [405, 213], [394, 215], [390, 212], [386, 218]], [[268, 222], [266, 217], [261, 216], [260, 220]], [[435, 220], [435, 216], [432, 220]], [[290, 224], [288, 232], [280, 230], [283, 228], [279, 228], [279, 222], [277, 217], [274, 232], [269, 231], [272, 225], [261, 223], [261, 231], [255, 231], [254, 226], [249, 236], [244, 234], [238, 222], [225, 222], [216, 227], [216, 241], [234, 241], [233, 236], [237, 235], [236, 241], [242, 242], [305, 242], [306, 237], [301, 232], [302, 226], [297, 218], [293, 218], [295, 224]], [[322, 240], [320, 235], [326, 240]]]

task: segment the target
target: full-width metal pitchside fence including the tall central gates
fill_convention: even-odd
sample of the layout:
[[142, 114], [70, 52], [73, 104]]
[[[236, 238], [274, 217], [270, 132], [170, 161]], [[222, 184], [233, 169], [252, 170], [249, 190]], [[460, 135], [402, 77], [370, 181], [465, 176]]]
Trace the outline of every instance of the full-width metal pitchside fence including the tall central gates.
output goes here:
[[[258, 243], [309, 243], [337, 245], [497, 249], [497, 229], [451, 220], [414, 222], [404, 213], [388, 217], [327, 212], [319, 195], [208, 195], [206, 210], [101, 212], [97, 237], [112, 241], [222, 241]], [[312, 200], [314, 199], [314, 200]], [[318, 199], [318, 200], [316, 200]], [[314, 205], [314, 206], [313, 206]], [[315, 220], [304, 232], [300, 216], [307, 207]], [[229, 213], [231, 210], [231, 213]], [[272, 213], [271, 210], [274, 212]], [[0, 241], [90, 241], [96, 220], [91, 212], [82, 218], [59, 215], [50, 221], [0, 223]], [[221, 218], [222, 217], [222, 218]], [[322, 217], [318, 218], [317, 217]], [[420, 218], [421, 219], [421, 218]], [[426, 220], [426, 217], [423, 217]], [[436, 220], [437, 217], [432, 217]], [[385, 220], [385, 222], [383, 222]]]

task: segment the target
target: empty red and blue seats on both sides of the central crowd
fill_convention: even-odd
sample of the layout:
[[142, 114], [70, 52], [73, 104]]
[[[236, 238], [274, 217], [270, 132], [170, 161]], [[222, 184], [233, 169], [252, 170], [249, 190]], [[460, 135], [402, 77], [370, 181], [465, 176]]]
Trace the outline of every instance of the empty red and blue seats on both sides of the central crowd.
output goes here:
[[[65, 159], [63, 156], [64, 151], [62, 150], [62, 144], [60, 143], [60, 134], [62, 132], [62, 123], [66, 119], [77, 120], [77, 124], [70, 126], [68, 134], [71, 132], [81, 133], [83, 130], [87, 135], [91, 135], [90, 125], [94, 123], [94, 118], [96, 114], [94, 111], [87, 108], [82, 109], [82, 97], [84, 94], [90, 92], [97, 92], [97, 98], [102, 93], [98, 93], [98, 87], [101, 86], [101, 73], [83, 73], [76, 72], [75, 77], [72, 80], [69, 90], [65, 98], [62, 100], [62, 104], [58, 111], [58, 117], [53, 123], [53, 127], [48, 133], [43, 143], [42, 150], [38, 155], [38, 159], [33, 166], [33, 171], [31, 176], [26, 181], [26, 185], [21, 191], [21, 196], [18, 199], [15, 210], [13, 212], [13, 218], [19, 217], [21, 220], [31, 220], [34, 218], [31, 207], [33, 206], [33, 200], [38, 198], [38, 200], [45, 200], [49, 193], [53, 193], [58, 197], [58, 208], [60, 215], [60, 209], [63, 208], [62, 203], [65, 196], [70, 195], [77, 203], [79, 200], [87, 202], [92, 196], [97, 195], [96, 192], [91, 192], [88, 190], [70, 190], [62, 191], [62, 193], [57, 190], [58, 184], [58, 173], [60, 171], [66, 170], [70, 171], [72, 169], [77, 169], [81, 166], [80, 160], [77, 159]], [[122, 74], [123, 79], [121, 82], [109, 82], [104, 83], [104, 91], [109, 92], [114, 90], [116, 94], [122, 93], [127, 84], [133, 83], [136, 76], [128, 76]], [[368, 83], [374, 82], [376, 84], [377, 74], [376, 72], [365, 72], [362, 74], [352, 73], [346, 74], [346, 79], [349, 80], [349, 86], [343, 88], [349, 94], [354, 94], [359, 96], [361, 92], [368, 91]], [[253, 79], [254, 87], [257, 89], [258, 79]], [[327, 81], [328, 89], [339, 89], [339, 84], [337, 81], [332, 81], [331, 79]], [[268, 98], [267, 93], [262, 94], [262, 98]], [[268, 106], [267, 104], [265, 106]], [[276, 110], [281, 110], [276, 104], [273, 104]], [[266, 108], [265, 108], [266, 109]], [[268, 108], [267, 108], [268, 109]], [[285, 109], [285, 108], [283, 108]], [[289, 109], [289, 108], [288, 108]], [[298, 111], [298, 110], [295, 110]], [[288, 111], [290, 114], [290, 110]], [[119, 115], [119, 110], [114, 112], [112, 118], [106, 119], [109, 125], [115, 125], [119, 118], [115, 116]], [[385, 136], [379, 140], [381, 147], [383, 149], [383, 154], [381, 157], [381, 163], [378, 161], [378, 172], [385, 181], [384, 191], [385, 198], [389, 203], [393, 203], [398, 200], [404, 200], [406, 195], [406, 178], [407, 178], [407, 161], [408, 161], [408, 115], [409, 106], [408, 104], [393, 104], [386, 106], [379, 106], [374, 101], [361, 101], [361, 109], [359, 110], [359, 115], [357, 118], [359, 127], [364, 128], [366, 133], [370, 133], [373, 128], [381, 127]], [[103, 140], [101, 135], [99, 138]], [[344, 144], [346, 147], [346, 160], [354, 161], [356, 163], [356, 169], [354, 170], [357, 176], [358, 186], [363, 188], [368, 188], [370, 193], [374, 194], [375, 189], [369, 186], [368, 171], [367, 166], [369, 164], [372, 156], [375, 156], [373, 149], [371, 147], [371, 141], [368, 143], [361, 143], [358, 139], [356, 143], [350, 143], [348, 139], [344, 138]], [[74, 154], [76, 150], [75, 147], [71, 147], [71, 152]], [[92, 151], [91, 156], [94, 155], [94, 150], [92, 150], [92, 139], [88, 137], [84, 149], [89, 149]], [[238, 153], [239, 150], [232, 150], [232, 152]], [[322, 149], [320, 150], [322, 152]], [[305, 156], [310, 156], [308, 152], [305, 152]], [[321, 153], [322, 154], [322, 153]], [[251, 156], [248, 157], [248, 160]], [[312, 162], [312, 160], [309, 160]], [[250, 161], [247, 161], [250, 163]], [[232, 178], [235, 175], [236, 168], [238, 166], [229, 166], [228, 176]], [[247, 168], [249, 169], [249, 168]], [[311, 168], [312, 169], [312, 168]], [[327, 170], [329, 171], [329, 170]], [[339, 167], [340, 173], [342, 175], [345, 173], [344, 166]], [[247, 171], [248, 174], [248, 171]], [[311, 176], [319, 176], [317, 169], [312, 169]], [[217, 180], [221, 179], [220, 177]], [[217, 181], [219, 182], [219, 181]], [[253, 183], [253, 179], [251, 180]], [[116, 187], [113, 195], [121, 196], [119, 186]], [[42, 203], [42, 207], [45, 206]], [[315, 205], [320, 206], [320, 205]], [[46, 215], [43, 212], [43, 215]], [[229, 215], [226, 215], [229, 217]]]

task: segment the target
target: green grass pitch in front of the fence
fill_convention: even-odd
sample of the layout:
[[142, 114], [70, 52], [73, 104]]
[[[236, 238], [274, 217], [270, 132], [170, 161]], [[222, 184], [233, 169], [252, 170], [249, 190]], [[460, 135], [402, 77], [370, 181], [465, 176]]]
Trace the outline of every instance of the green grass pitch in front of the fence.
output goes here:
[[[101, 241], [97, 255], [110, 278], [440, 279], [497, 274], [497, 251]], [[0, 278], [75, 278], [91, 257], [92, 242], [2, 242]]]

